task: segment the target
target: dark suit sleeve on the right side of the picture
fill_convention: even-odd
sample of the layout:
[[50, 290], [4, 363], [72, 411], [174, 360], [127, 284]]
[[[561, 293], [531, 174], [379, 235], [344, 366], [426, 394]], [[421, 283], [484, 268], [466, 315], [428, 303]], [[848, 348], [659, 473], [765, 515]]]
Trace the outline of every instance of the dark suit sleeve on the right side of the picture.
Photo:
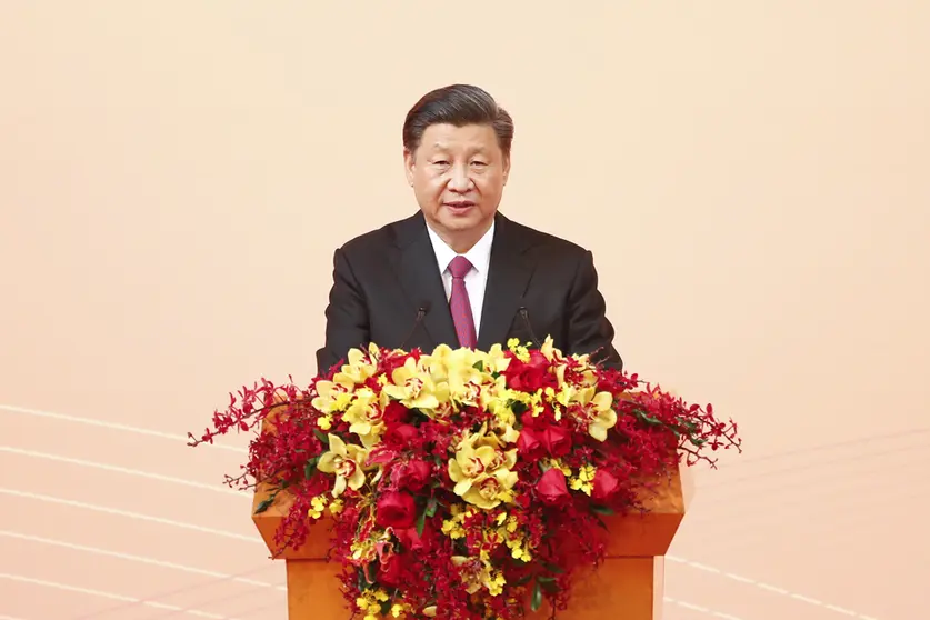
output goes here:
[[591, 353], [591, 360], [604, 367], [623, 369], [623, 360], [613, 348], [614, 330], [607, 318], [607, 303], [598, 290], [594, 257], [587, 250], [574, 274], [568, 303], [568, 350]]

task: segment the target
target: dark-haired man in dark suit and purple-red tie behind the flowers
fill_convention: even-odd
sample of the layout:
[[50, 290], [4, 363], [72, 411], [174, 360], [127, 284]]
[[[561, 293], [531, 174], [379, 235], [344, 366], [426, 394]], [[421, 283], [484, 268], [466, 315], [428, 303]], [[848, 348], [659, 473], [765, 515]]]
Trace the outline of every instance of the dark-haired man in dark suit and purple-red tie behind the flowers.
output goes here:
[[483, 90], [426, 94], [403, 124], [416, 214], [336, 250], [324, 374], [349, 349], [482, 350], [551, 336], [564, 353], [622, 369], [591, 252], [498, 211], [513, 122]]

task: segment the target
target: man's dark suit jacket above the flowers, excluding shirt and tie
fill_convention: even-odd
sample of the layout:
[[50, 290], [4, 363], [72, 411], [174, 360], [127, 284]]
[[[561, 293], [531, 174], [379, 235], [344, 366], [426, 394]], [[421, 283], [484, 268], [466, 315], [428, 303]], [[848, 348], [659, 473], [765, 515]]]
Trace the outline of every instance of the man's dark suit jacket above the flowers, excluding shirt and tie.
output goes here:
[[[349, 349], [369, 342], [423, 351], [441, 343], [458, 347], [426, 227], [418, 211], [336, 250], [326, 344], [317, 351], [319, 374]], [[421, 308], [428, 310], [418, 323]], [[566, 354], [598, 351], [594, 361], [622, 369], [591, 252], [500, 212], [482, 308], [479, 349], [506, 347], [510, 338], [532, 342], [551, 336]]]

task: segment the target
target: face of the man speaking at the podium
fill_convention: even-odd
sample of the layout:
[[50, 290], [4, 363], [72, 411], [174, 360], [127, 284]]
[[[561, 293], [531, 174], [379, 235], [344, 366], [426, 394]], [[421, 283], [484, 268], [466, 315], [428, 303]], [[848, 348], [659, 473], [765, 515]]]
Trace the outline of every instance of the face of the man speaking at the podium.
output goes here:
[[427, 221], [452, 249], [467, 251], [490, 228], [510, 172], [493, 128], [432, 124], [403, 159]]

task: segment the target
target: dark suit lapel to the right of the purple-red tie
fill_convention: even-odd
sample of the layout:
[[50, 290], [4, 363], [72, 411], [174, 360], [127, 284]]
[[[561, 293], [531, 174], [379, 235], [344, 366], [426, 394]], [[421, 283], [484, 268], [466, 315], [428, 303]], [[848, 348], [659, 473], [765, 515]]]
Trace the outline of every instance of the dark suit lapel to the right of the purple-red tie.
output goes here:
[[478, 348], [481, 350], [487, 351], [494, 343], [507, 344], [508, 331], [533, 273], [533, 264], [526, 250], [526, 237], [510, 220], [498, 213], [478, 333]]

